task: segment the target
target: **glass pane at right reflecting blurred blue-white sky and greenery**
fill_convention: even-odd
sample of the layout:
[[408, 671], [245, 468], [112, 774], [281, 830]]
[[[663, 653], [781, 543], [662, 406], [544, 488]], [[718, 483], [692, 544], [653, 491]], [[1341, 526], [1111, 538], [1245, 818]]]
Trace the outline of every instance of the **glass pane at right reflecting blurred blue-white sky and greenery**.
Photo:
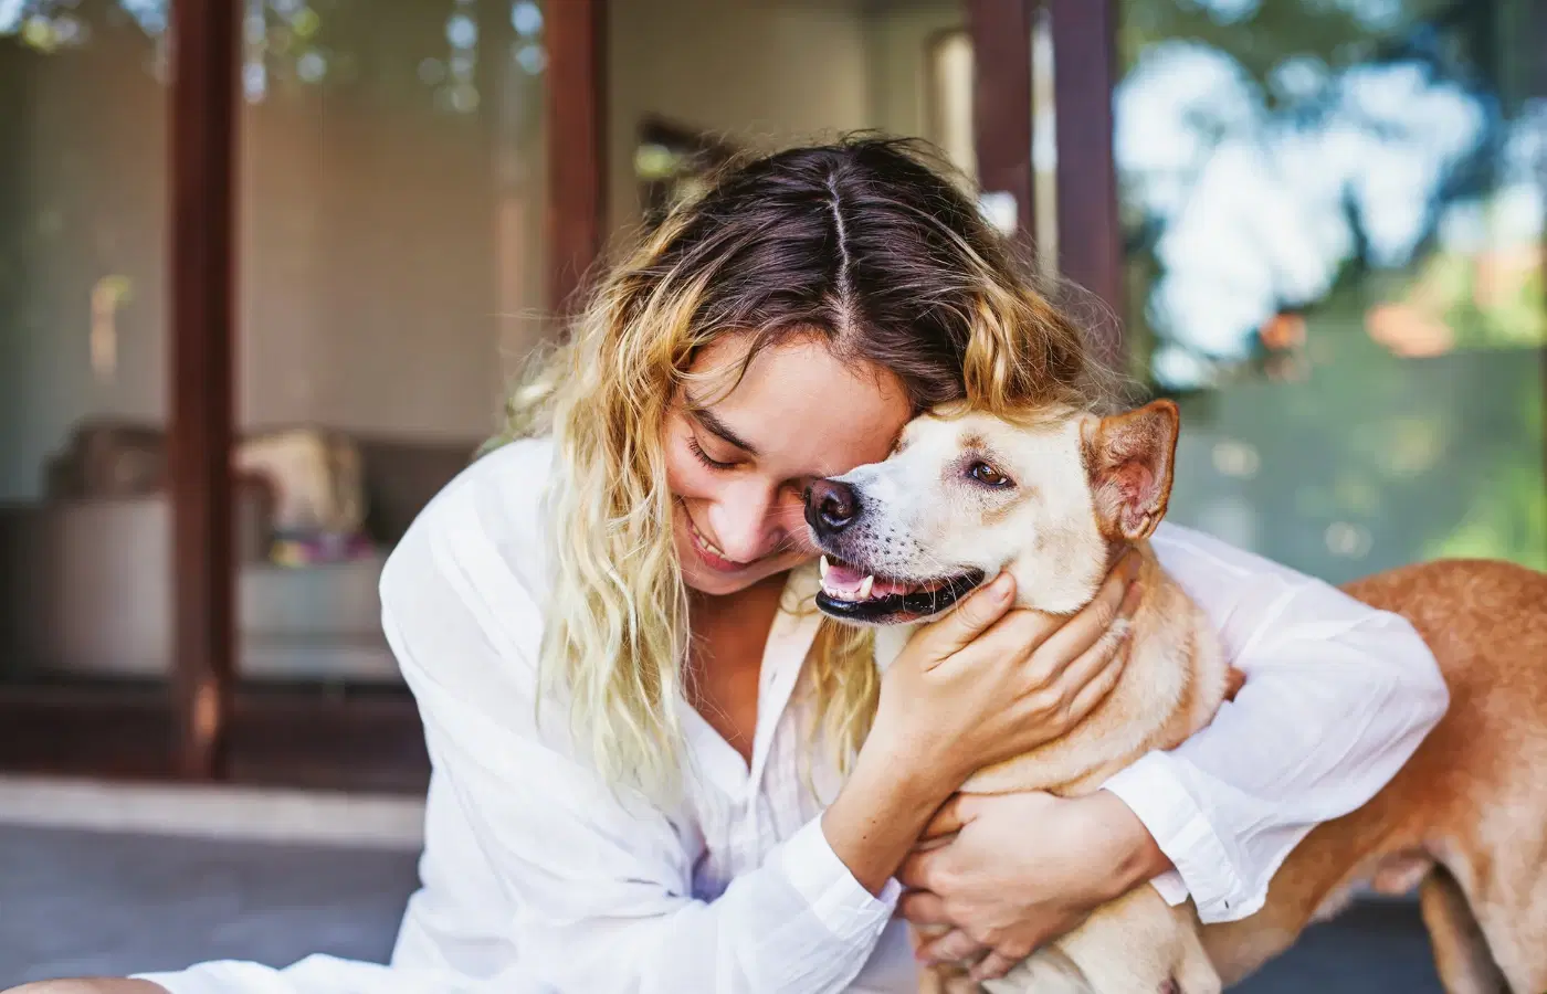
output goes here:
[[1129, 325], [1183, 397], [1182, 518], [1338, 580], [1547, 566], [1527, 8], [1123, 0]]

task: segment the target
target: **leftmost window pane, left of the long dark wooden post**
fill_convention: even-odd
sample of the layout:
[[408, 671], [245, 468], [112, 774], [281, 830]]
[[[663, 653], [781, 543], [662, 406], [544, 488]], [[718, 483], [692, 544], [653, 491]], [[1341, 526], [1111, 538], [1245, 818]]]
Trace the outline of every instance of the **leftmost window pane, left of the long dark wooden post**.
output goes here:
[[170, 655], [162, 12], [0, 3], [0, 677]]

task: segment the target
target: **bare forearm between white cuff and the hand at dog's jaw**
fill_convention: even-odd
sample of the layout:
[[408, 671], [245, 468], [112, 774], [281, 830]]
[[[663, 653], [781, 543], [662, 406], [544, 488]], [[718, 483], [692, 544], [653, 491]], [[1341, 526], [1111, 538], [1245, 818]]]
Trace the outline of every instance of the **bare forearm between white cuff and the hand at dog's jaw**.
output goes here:
[[948, 778], [930, 776], [868, 742], [837, 799], [821, 816], [832, 852], [854, 880], [880, 894], [950, 796]]

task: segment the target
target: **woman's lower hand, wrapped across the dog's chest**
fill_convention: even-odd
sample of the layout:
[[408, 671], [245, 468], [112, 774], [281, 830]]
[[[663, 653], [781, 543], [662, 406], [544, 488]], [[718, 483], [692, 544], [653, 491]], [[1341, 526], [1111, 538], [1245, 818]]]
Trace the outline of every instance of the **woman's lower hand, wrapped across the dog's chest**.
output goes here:
[[948, 843], [902, 864], [897, 877], [911, 890], [897, 914], [950, 926], [919, 957], [978, 960], [975, 980], [1002, 977], [1098, 906], [1170, 869], [1139, 818], [1105, 790], [1078, 799], [958, 795], [930, 833], [953, 829]]

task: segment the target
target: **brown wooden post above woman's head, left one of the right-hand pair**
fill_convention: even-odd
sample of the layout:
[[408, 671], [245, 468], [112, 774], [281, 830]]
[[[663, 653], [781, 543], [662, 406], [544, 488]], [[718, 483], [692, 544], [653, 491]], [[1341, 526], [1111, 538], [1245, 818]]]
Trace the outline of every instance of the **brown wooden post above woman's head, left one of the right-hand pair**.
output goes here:
[[973, 49], [978, 187], [1015, 198], [1016, 229], [1036, 232], [1032, 173], [1032, 12], [1035, 0], [967, 0]]

